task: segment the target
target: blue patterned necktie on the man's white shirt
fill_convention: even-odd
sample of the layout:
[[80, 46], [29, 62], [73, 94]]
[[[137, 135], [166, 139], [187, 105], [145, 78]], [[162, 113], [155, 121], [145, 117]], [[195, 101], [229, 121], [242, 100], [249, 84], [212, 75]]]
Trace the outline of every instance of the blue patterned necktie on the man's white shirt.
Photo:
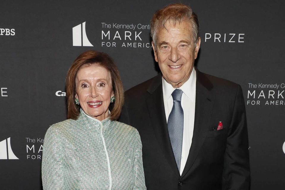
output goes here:
[[176, 88], [171, 96], [173, 99], [173, 107], [167, 120], [167, 128], [174, 153], [175, 161], [180, 172], [182, 142], [183, 142], [183, 124], [184, 113], [181, 106], [181, 96], [183, 91]]

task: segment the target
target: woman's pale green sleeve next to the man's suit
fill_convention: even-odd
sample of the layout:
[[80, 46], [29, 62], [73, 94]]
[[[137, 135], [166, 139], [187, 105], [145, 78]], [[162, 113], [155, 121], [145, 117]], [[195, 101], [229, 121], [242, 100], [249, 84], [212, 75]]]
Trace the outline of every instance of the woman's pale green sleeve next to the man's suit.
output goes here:
[[135, 146], [135, 158], [134, 158], [134, 187], [133, 190], [146, 190], [145, 186], [145, 175], [143, 171], [143, 155], [142, 155], [142, 142], [140, 140], [140, 134], [135, 129], [134, 136]]

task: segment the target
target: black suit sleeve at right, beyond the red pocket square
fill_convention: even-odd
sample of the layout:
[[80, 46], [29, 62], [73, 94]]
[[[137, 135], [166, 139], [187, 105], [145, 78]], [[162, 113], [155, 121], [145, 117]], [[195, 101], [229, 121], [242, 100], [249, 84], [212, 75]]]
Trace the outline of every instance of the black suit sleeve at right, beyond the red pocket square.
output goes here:
[[224, 153], [223, 190], [248, 190], [250, 168], [246, 110], [240, 85], [235, 96], [232, 121]]

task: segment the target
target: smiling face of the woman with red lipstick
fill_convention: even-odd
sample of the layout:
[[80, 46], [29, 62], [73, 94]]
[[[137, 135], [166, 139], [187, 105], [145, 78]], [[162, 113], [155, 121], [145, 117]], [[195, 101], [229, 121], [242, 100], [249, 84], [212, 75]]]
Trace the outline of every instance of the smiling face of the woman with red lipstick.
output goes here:
[[104, 120], [108, 117], [113, 96], [110, 73], [100, 65], [83, 66], [76, 75], [76, 94], [82, 110], [89, 116]]

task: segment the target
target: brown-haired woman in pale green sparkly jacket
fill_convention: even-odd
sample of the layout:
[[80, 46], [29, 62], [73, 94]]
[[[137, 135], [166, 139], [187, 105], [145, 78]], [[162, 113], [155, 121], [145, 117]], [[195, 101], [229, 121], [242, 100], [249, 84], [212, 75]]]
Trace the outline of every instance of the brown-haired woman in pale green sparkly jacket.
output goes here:
[[66, 77], [68, 118], [45, 135], [43, 189], [146, 189], [140, 135], [115, 121], [124, 102], [118, 69], [87, 51]]

